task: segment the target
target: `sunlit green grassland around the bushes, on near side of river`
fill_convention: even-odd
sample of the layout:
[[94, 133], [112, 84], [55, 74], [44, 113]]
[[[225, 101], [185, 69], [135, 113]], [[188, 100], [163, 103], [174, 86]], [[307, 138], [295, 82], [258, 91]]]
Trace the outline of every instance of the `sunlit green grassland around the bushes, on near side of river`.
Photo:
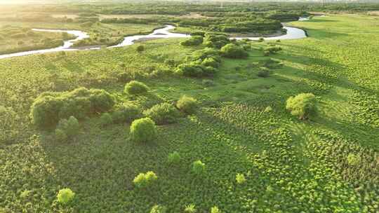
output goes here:
[[[198, 212], [213, 206], [222, 212], [378, 212], [379, 22], [327, 15], [291, 25], [310, 37], [276, 43], [283, 51], [268, 57], [262, 48], [270, 42], [252, 41], [248, 58], [222, 58], [218, 73], [205, 78], [213, 85], [170, 72], [175, 68], [165, 60], [182, 62], [204, 48], [180, 46], [182, 39], [143, 42], [142, 53], [133, 45], [0, 60], [0, 112], [6, 115], [0, 212], [142, 213], [156, 204], [168, 212], [189, 204]], [[272, 60], [281, 65], [258, 77], [258, 68]], [[147, 95], [126, 95], [128, 79], [120, 74], [146, 83]], [[182, 95], [197, 98], [200, 107], [159, 125], [151, 144], [131, 142], [128, 123], [104, 127], [98, 116], [80, 121], [79, 135], [64, 143], [34, 128], [29, 111], [41, 92], [81, 86], [143, 109]], [[285, 109], [286, 99], [300, 92], [319, 100], [310, 121]], [[182, 156], [177, 166], [167, 163], [174, 151]], [[351, 153], [360, 157], [358, 165], [347, 163]], [[191, 174], [194, 160], [206, 164], [204, 177]], [[157, 174], [157, 184], [135, 188], [134, 177], [147, 171]], [[237, 184], [237, 173], [244, 184]], [[66, 187], [76, 197], [58, 205], [56, 195]]]

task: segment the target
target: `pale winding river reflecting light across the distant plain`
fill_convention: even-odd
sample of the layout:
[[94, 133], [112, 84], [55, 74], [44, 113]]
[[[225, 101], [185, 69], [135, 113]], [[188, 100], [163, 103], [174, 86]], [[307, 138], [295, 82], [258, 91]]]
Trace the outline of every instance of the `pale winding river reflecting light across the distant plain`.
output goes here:
[[[305, 21], [308, 20], [308, 18], [300, 18], [299, 21]], [[287, 30], [287, 33], [281, 36], [273, 36], [273, 37], [263, 37], [266, 40], [285, 40], [285, 39], [304, 39], [307, 37], [307, 34], [304, 30], [295, 28], [295, 27], [283, 27]], [[175, 29], [173, 25], [166, 25], [166, 27], [161, 29], [156, 29], [151, 34], [147, 35], [136, 35], [136, 36], [126, 36], [124, 38], [124, 41], [121, 43], [110, 46], [108, 48], [117, 48], [122, 46], [129, 46], [135, 43], [135, 41], [138, 40], [145, 40], [145, 39], [168, 39], [168, 38], [188, 38], [190, 37], [188, 34], [178, 34], [178, 33], [172, 33], [169, 32], [170, 30]], [[11, 53], [11, 54], [5, 54], [0, 55], [0, 59], [7, 58], [7, 57], [18, 57], [23, 55], [32, 55], [32, 54], [38, 54], [38, 53], [53, 53], [58, 51], [74, 51], [74, 50], [94, 50], [94, 49], [100, 49], [100, 48], [72, 48], [72, 45], [76, 41], [80, 41], [82, 39], [89, 38], [89, 35], [86, 32], [81, 32], [79, 30], [62, 30], [62, 29], [32, 29], [34, 31], [39, 32], [67, 32], [68, 34], [73, 34], [76, 36], [76, 39], [65, 41], [63, 46], [59, 46], [57, 48], [51, 48], [51, 49], [45, 49], [45, 50], [31, 50], [31, 51], [25, 51], [20, 53]], [[261, 37], [231, 37], [230, 39], [251, 39], [251, 40], [258, 40]]]

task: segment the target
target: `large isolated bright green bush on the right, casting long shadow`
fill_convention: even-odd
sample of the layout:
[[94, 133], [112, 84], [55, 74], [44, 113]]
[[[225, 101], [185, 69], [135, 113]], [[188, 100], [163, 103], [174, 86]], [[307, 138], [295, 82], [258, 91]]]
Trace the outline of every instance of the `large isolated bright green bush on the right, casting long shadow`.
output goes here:
[[316, 97], [312, 93], [300, 93], [287, 99], [286, 109], [291, 111], [293, 116], [305, 120], [316, 113], [316, 104]]

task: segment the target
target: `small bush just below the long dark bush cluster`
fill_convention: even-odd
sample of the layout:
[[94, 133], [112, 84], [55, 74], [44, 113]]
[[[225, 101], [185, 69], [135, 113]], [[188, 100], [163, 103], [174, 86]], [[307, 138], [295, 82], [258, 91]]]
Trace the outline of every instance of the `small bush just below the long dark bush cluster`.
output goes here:
[[79, 121], [74, 116], [70, 116], [69, 119], [62, 118], [57, 128], [55, 129], [55, 138], [58, 141], [64, 142], [67, 139], [71, 139], [79, 132]]

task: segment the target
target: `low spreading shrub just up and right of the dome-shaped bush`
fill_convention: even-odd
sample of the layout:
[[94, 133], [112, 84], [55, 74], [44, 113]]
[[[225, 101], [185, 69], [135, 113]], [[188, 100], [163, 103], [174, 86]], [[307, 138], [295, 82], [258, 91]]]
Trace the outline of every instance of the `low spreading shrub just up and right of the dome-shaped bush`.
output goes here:
[[168, 103], [156, 104], [144, 111], [144, 114], [148, 118], [152, 118], [157, 124], [174, 123], [176, 118], [180, 116], [178, 109]]

